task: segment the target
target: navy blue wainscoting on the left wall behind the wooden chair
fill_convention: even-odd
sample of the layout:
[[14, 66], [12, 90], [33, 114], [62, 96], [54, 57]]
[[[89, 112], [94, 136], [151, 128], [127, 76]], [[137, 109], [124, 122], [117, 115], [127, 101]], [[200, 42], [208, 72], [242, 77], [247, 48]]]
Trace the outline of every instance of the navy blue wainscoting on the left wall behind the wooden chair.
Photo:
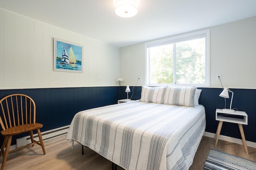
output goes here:
[[[70, 125], [74, 115], [82, 110], [117, 104], [120, 87], [81, 87], [81, 88], [40, 88], [0, 90], [0, 98], [9, 94], [26, 94], [36, 103], [36, 121], [44, 126], [41, 132]], [[28, 134], [17, 135], [16, 139]], [[3, 137], [0, 135], [0, 144]]]

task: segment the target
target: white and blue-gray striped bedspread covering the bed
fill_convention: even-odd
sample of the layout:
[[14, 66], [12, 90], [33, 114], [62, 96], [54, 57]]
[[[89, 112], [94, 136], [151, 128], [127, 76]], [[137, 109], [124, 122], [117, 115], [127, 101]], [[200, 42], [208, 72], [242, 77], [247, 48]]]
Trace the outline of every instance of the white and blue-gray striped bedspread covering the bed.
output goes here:
[[134, 101], [78, 112], [66, 139], [126, 170], [187, 170], [205, 126], [202, 105]]

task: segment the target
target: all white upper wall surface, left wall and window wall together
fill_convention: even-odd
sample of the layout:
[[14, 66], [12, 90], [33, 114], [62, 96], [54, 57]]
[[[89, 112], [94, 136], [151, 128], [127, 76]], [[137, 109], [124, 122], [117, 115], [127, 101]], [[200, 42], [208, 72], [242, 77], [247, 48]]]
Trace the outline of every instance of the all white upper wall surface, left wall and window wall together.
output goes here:
[[[256, 88], [255, 30], [256, 17], [210, 27], [210, 87], [221, 75], [229, 88]], [[54, 38], [84, 46], [83, 73], [53, 71]], [[0, 9], [0, 89], [116, 86], [119, 76], [141, 86], [145, 43], [119, 49]]]

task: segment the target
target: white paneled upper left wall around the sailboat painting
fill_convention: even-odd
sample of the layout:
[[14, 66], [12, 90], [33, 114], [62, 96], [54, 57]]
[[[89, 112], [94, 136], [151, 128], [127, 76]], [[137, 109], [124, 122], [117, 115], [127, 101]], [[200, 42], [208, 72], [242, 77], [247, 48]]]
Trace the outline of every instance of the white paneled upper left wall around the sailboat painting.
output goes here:
[[[84, 46], [83, 73], [53, 71], [54, 38]], [[0, 89], [116, 86], [119, 50], [0, 9]]]

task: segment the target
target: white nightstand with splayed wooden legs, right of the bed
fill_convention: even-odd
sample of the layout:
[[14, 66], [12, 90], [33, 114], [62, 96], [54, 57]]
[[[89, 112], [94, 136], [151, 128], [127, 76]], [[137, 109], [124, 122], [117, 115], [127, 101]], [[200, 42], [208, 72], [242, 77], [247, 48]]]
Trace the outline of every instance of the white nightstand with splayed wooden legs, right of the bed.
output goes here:
[[218, 125], [216, 135], [215, 135], [215, 139], [216, 139], [215, 146], [217, 146], [217, 143], [218, 143], [222, 123], [224, 121], [230, 122], [230, 123], [237, 123], [239, 130], [240, 130], [241, 137], [242, 137], [242, 141], [244, 143], [245, 151], [248, 154], [248, 149], [247, 149], [246, 140], [245, 140], [245, 136], [244, 136], [244, 129], [242, 126], [242, 125], [248, 124], [247, 114], [244, 111], [235, 111], [235, 112], [230, 113], [230, 112], [222, 111], [222, 109], [216, 109], [215, 116], [216, 116], [215, 119], [217, 121], [219, 121], [219, 125]]

